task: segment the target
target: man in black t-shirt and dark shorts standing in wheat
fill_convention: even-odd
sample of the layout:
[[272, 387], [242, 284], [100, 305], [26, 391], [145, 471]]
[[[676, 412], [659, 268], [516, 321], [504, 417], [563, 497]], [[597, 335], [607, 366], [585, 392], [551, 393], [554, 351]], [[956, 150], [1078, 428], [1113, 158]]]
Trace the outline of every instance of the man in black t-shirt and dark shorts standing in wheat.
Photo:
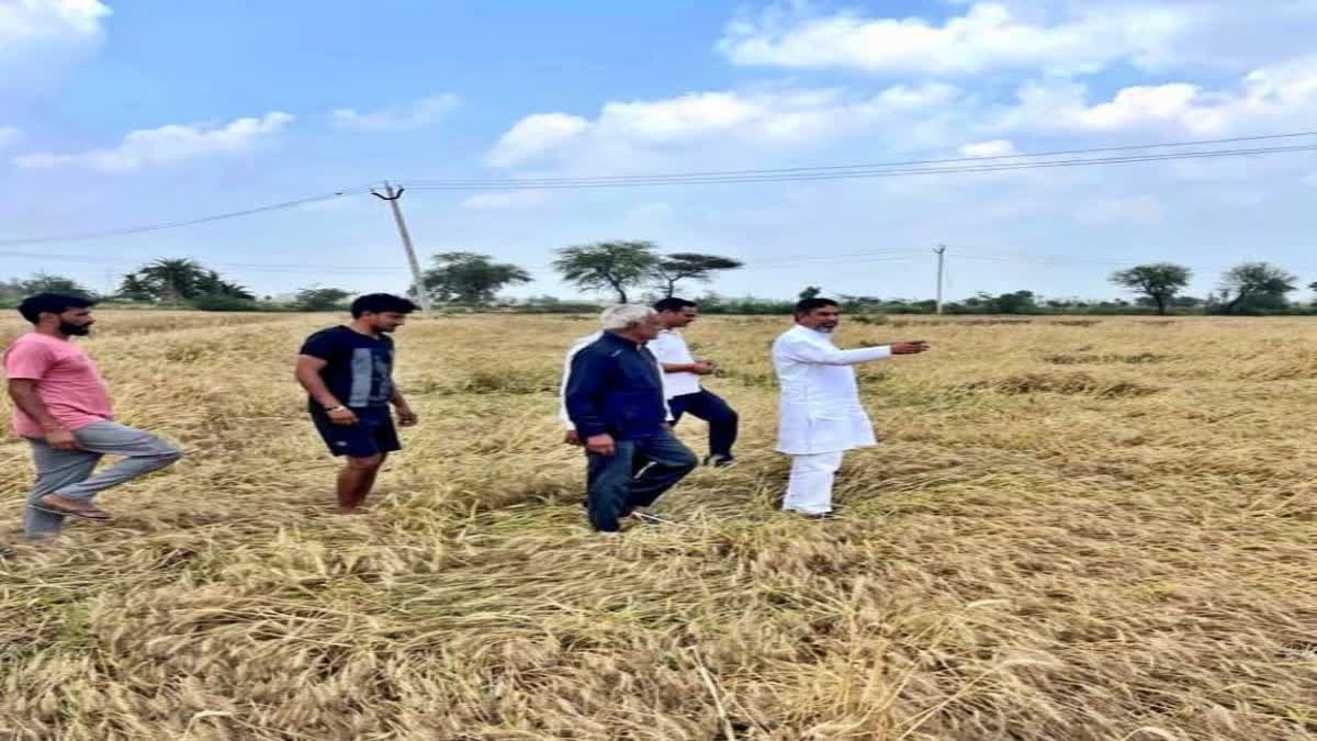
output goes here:
[[298, 356], [298, 382], [311, 397], [311, 421], [329, 452], [348, 460], [338, 473], [342, 514], [358, 512], [385, 459], [402, 450], [389, 405], [398, 410], [399, 425], [416, 423], [394, 386], [394, 340], [389, 338], [415, 310], [415, 303], [396, 295], [363, 295], [352, 303], [352, 324], [311, 335]]

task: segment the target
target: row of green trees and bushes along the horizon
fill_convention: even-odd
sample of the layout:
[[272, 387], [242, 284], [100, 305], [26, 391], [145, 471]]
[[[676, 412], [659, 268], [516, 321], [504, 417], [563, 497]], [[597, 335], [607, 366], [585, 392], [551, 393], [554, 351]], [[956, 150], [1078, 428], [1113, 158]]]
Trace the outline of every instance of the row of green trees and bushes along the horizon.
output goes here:
[[[611, 299], [627, 303], [636, 299], [670, 297], [678, 286], [707, 283], [726, 270], [735, 270], [743, 262], [718, 254], [677, 252], [661, 253], [651, 241], [599, 241], [570, 245], [557, 251], [553, 268], [565, 283], [582, 291], [603, 293]], [[1306, 312], [1310, 309], [1293, 303], [1289, 294], [1300, 290], [1300, 278], [1270, 262], [1245, 262], [1226, 270], [1217, 289], [1206, 297], [1184, 295], [1193, 280], [1191, 268], [1172, 262], [1150, 262], [1115, 270], [1109, 281], [1133, 295], [1133, 301], [1080, 301], [1044, 299], [1030, 290], [1004, 294], [979, 293], [963, 301], [950, 302], [943, 310], [951, 314], [1036, 314], [1036, 312], [1195, 312], [1195, 314], [1275, 314]], [[443, 306], [502, 309], [523, 311], [582, 311], [593, 309], [585, 302], [564, 302], [554, 297], [539, 297], [520, 302], [499, 301], [507, 287], [532, 282], [531, 273], [514, 264], [498, 262], [489, 254], [477, 252], [443, 252], [432, 256], [421, 282], [429, 298]], [[1317, 282], [1306, 287], [1317, 290]], [[0, 281], [0, 302], [13, 303], [25, 295], [41, 291], [96, 297], [95, 291], [76, 281], [38, 273], [25, 280]], [[414, 291], [410, 291], [414, 293]], [[689, 293], [689, 289], [687, 289]], [[806, 286], [801, 297], [818, 295], [819, 286]], [[128, 273], [119, 289], [96, 298], [167, 307], [192, 307], [212, 311], [331, 311], [345, 306], [352, 291], [309, 286], [298, 290], [290, 299], [275, 302], [270, 297], [258, 301], [246, 286], [230, 281], [219, 272], [190, 258], [161, 258]], [[932, 312], [931, 299], [882, 299], [864, 295], [843, 295], [852, 310], [867, 312]], [[701, 297], [707, 311], [777, 314], [789, 311], [792, 301], [727, 299], [706, 293]]]

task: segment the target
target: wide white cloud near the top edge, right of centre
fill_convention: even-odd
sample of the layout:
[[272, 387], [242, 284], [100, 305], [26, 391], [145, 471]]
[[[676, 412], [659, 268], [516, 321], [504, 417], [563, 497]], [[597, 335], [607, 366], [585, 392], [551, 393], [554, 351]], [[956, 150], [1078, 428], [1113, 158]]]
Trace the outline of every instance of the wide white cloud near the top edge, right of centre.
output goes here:
[[963, 16], [934, 24], [852, 12], [809, 17], [776, 8], [731, 22], [718, 49], [736, 65], [803, 70], [1096, 71], [1117, 62], [1158, 63], [1187, 30], [1191, 13], [1184, 8], [1104, 3], [1022, 18], [1004, 3], [975, 3]]

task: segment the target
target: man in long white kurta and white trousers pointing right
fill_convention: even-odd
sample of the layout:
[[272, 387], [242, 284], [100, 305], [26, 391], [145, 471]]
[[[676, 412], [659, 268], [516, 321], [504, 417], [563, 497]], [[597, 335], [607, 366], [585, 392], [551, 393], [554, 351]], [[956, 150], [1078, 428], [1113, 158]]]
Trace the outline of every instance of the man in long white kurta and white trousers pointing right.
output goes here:
[[877, 442], [851, 367], [928, 349], [925, 341], [838, 349], [832, 332], [840, 314], [832, 299], [803, 299], [795, 305], [795, 327], [773, 343], [773, 369], [782, 389], [777, 450], [792, 456], [782, 509], [818, 518], [832, 512], [832, 481], [843, 454]]

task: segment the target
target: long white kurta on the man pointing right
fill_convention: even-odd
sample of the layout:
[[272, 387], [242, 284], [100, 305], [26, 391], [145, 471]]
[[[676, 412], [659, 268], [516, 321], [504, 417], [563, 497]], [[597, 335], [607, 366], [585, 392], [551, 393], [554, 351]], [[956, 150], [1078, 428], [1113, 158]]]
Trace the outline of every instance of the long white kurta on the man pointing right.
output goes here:
[[827, 332], [801, 326], [778, 336], [773, 343], [773, 369], [782, 389], [777, 450], [818, 455], [874, 444], [851, 365], [890, 355], [890, 347], [838, 349]]

